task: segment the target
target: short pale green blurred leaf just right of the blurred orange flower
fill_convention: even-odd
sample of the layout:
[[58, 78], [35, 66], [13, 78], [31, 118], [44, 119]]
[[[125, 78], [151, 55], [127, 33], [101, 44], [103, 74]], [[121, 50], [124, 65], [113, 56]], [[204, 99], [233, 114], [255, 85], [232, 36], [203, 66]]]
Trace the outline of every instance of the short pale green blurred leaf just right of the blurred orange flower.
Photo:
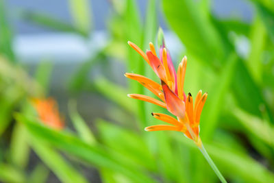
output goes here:
[[86, 143], [95, 144], [95, 136], [92, 134], [84, 119], [82, 119], [82, 117], [78, 114], [75, 100], [69, 101], [69, 116], [71, 117], [71, 121], [73, 122], [73, 125], [79, 136]]

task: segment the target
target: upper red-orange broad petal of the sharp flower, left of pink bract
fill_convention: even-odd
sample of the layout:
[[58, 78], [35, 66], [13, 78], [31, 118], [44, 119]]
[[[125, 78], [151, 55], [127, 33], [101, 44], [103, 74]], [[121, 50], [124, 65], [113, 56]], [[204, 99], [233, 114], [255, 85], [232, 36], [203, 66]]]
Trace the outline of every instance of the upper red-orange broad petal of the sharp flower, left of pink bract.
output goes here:
[[149, 58], [149, 62], [151, 63], [151, 67], [153, 71], [160, 77], [161, 80], [166, 81], [166, 73], [164, 71], [164, 66], [162, 62], [160, 62], [157, 56], [154, 56], [152, 51], [147, 51], [147, 57]]

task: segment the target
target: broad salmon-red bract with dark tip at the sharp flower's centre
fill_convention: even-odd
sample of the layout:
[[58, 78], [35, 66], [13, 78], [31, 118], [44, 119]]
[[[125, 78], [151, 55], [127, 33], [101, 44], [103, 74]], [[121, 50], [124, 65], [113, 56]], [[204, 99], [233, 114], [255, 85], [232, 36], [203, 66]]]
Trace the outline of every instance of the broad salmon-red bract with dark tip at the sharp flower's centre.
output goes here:
[[162, 89], [164, 91], [164, 99], [166, 100], [166, 108], [179, 118], [184, 118], [185, 116], [185, 105], [182, 99], [179, 99], [175, 93], [162, 81]]

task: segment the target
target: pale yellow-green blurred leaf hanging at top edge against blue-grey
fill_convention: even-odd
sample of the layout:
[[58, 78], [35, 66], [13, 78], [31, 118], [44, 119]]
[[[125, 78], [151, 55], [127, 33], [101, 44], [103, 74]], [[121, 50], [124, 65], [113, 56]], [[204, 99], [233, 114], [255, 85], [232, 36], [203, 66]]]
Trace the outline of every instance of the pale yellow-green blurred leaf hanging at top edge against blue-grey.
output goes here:
[[69, 0], [75, 27], [88, 35], [91, 29], [91, 9], [88, 0]]

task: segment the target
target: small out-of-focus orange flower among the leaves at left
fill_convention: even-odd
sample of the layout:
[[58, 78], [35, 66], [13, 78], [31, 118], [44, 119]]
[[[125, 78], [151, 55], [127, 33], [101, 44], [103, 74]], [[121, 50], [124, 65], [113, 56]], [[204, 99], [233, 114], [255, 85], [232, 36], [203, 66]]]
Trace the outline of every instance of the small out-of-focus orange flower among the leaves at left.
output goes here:
[[54, 99], [32, 99], [32, 103], [42, 123], [55, 130], [64, 128], [64, 120], [60, 118], [58, 106]]

